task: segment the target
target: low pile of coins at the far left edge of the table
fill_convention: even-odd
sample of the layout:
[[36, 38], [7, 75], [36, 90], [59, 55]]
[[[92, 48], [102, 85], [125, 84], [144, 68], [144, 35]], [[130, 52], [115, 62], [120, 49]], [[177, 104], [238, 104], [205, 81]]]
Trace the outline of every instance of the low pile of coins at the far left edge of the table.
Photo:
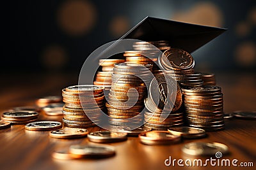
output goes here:
[[3, 113], [1, 120], [11, 124], [28, 124], [38, 118], [36, 111], [8, 111]]

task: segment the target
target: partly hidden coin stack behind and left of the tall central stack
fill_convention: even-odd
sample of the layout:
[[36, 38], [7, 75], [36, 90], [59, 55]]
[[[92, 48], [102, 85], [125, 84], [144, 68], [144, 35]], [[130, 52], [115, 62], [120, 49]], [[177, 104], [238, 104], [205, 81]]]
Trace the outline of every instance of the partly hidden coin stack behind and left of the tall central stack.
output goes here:
[[[105, 90], [111, 88], [111, 74], [113, 73], [113, 68], [116, 63], [125, 62], [123, 59], [100, 59], [99, 66], [101, 66], [102, 71], [98, 71], [94, 85], [100, 85], [105, 87]], [[108, 93], [108, 92], [107, 92]]]

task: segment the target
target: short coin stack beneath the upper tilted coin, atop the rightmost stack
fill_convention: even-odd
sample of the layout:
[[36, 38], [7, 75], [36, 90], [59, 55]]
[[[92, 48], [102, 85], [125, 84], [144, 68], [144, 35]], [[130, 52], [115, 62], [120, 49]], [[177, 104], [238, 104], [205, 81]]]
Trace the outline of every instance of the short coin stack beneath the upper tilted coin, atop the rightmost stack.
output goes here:
[[163, 73], [176, 80], [180, 87], [202, 87], [203, 85], [202, 74], [199, 72], [193, 73], [191, 69], [180, 72], [163, 70]]

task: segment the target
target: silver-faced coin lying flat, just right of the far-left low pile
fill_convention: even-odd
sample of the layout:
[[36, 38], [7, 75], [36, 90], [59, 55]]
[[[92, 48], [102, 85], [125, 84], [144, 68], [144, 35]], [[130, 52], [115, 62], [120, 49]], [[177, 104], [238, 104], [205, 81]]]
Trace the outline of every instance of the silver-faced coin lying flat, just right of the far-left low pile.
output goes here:
[[62, 127], [61, 122], [54, 121], [40, 121], [25, 125], [25, 129], [29, 131], [53, 131]]

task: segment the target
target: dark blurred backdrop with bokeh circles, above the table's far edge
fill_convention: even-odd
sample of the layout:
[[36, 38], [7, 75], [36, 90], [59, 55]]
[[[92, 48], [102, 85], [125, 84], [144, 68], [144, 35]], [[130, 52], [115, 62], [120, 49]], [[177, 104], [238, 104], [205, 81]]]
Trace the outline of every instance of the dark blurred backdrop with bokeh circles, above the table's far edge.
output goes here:
[[193, 53], [205, 71], [255, 71], [256, 1], [13, 1], [10, 48], [1, 71], [72, 71], [100, 45], [120, 38], [147, 16], [225, 27]]

